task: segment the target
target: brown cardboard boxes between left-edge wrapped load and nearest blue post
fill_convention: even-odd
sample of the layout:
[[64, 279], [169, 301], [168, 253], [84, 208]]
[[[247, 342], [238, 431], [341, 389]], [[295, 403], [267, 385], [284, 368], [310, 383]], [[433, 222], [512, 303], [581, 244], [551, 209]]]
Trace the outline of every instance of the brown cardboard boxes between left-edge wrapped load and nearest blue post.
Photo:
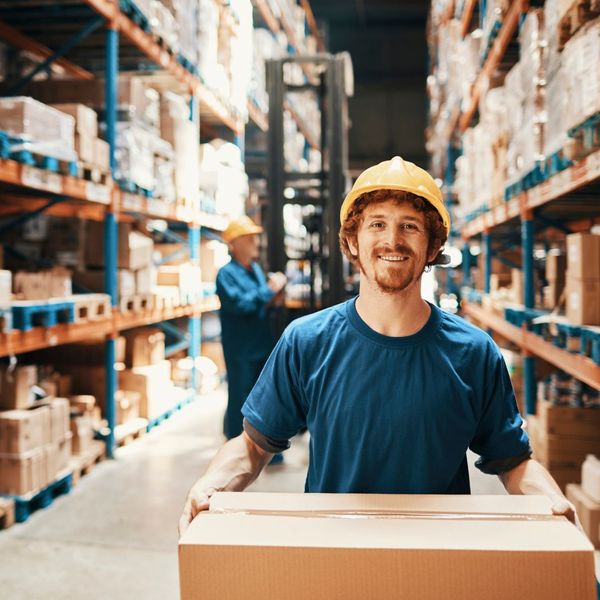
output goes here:
[[99, 169], [102, 173], [110, 170], [110, 147], [108, 142], [98, 137], [98, 117], [96, 111], [84, 104], [52, 104], [75, 119], [75, 150], [79, 160], [87, 167]]

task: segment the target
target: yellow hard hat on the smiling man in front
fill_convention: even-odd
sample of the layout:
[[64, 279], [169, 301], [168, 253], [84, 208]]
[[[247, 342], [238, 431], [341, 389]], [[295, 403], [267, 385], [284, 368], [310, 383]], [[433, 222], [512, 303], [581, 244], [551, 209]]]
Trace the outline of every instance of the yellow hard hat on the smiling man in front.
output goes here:
[[346, 220], [350, 208], [359, 196], [375, 190], [402, 190], [427, 200], [440, 213], [446, 234], [450, 234], [450, 215], [444, 206], [442, 191], [433, 177], [421, 167], [399, 156], [369, 167], [359, 175], [342, 203], [340, 222]]

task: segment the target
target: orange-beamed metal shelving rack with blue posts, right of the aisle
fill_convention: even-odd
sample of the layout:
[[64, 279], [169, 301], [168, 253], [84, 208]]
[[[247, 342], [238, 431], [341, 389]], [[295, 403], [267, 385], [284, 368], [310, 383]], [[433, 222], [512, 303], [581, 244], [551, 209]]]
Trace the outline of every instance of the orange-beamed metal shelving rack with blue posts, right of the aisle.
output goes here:
[[[468, 33], [475, 1], [466, 0], [462, 14], [462, 35]], [[463, 133], [477, 112], [481, 84], [500, 64], [518, 28], [522, 15], [530, 2], [514, 0], [493, 42], [491, 51], [474, 85], [471, 101], [464, 112], [454, 110], [448, 125], [450, 143], [457, 130]], [[450, 165], [446, 165], [446, 170]], [[478, 240], [483, 252], [483, 291], [489, 293], [492, 258], [502, 259], [502, 252], [516, 246], [522, 248], [522, 272], [524, 279], [524, 307], [534, 308], [534, 243], [538, 230], [555, 228], [564, 233], [579, 229], [578, 222], [591, 225], [599, 221], [600, 211], [594, 200], [600, 193], [600, 150], [554, 174], [545, 181], [522, 191], [500, 206], [488, 210], [462, 225], [460, 235], [464, 241], [463, 281], [470, 286], [470, 245]], [[571, 226], [563, 223], [567, 220]], [[494, 243], [496, 247], [494, 247]], [[475, 294], [477, 295], [477, 294]], [[565, 348], [546, 341], [527, 323], [521, 327], [508, 322], [477, 302], [463, 299], [461, 308], [483, 327], [497, 333], [519, 347], [523, 354], [524, 400], [528, 414], [536, 412], [535, 359], [540, 358], [569, 373], [587, 385], [600, 390], [600, 365], [591, 357], [574, 354]]]

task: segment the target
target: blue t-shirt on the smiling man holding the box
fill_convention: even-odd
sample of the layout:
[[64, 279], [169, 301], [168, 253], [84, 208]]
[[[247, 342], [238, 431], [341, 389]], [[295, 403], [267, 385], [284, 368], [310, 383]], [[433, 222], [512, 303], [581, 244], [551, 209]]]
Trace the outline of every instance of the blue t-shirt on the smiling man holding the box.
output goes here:
[[419, 332], [388, 337], [355, 303], [289, 325], [242, 409], [271, 439], [308, 427], [307, 492], [468, 494], [467, 448], [482, 470], [531, 452], [486, 333], [431, 305]]

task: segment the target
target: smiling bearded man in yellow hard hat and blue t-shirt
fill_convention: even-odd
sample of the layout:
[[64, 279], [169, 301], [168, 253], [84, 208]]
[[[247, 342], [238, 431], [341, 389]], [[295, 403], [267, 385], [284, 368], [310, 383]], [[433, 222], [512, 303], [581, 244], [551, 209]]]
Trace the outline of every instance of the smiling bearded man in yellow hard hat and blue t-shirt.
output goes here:
[[340, 217], [358, 297], [288, 326], [242, 409], [244, 432], [190, 490], [180, 531], [214, 491], [245, 489], [303, 427], [307, 492], [468, 494], [470, 448], [509, 493], [544, 494], [575, 522], [531, 458], [498, 347], [421, 298], [450, 231], [434, 180], [400, 157], [382, 162], [357, 179]]

